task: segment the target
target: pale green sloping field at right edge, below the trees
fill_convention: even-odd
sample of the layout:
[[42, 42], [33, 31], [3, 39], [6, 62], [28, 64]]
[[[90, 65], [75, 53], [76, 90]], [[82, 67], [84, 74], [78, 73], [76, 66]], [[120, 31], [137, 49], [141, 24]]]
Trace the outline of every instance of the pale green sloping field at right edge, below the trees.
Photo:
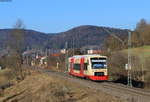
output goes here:
[[[123, 50], [123, 53], [128, 53], [128, 50]], [[132, 48], [131, 54], [139, 57], [150, 57], [150, 46], [143, 46], [139, 48]]]

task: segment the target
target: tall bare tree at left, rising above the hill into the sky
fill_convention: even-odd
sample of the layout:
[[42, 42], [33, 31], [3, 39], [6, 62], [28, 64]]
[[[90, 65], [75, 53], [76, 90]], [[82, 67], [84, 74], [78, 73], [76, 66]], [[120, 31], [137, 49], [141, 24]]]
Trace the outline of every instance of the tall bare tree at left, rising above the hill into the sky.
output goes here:
[[22, 69], [23, 43], [24, 43], [24, 24], [22, 20], [18, 19], [12, 29], [12, 32], [10, 33], [10, 40], [8, 41], [8, 46], [10, 48], [8, 64], [13, 70], [16, 78], [19, 78], [21, 80], [24, 79], [24, 74]]

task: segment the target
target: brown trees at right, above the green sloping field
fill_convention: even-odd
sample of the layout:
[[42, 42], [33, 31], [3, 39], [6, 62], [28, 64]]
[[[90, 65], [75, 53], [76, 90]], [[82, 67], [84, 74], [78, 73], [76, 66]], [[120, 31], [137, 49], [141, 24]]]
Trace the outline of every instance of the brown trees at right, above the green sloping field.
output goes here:
[[[150, 45], [150, 23], [145, 19], [141, 19], [134, 31], [129, 30], [129, 32], [131, 32], [132, 47]], [[119, 36], [119, 38], [121, 41], [109, 35], [105, 40], [105, 49], [107, 51], [117, 51], [128, 48], [128, 35]]]

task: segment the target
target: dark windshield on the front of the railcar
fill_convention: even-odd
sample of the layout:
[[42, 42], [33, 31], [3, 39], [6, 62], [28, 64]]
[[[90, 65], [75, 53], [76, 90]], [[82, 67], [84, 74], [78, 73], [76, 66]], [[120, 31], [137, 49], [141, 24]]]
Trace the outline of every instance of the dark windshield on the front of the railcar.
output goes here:
[[92, 68], [93, 69], [100, 69], [106, 68], [106, 58], [91, 58]]

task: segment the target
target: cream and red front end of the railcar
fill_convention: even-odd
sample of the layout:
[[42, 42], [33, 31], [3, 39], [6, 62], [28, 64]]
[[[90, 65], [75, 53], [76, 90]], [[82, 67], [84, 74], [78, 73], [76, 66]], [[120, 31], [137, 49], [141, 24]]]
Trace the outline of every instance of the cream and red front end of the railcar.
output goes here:
[[107, 58], [106, 57], [95, 57], [90, 58], [91, 71], [89, 79], [95, 81], [106, 81], [108, 80], [107, 70]]

